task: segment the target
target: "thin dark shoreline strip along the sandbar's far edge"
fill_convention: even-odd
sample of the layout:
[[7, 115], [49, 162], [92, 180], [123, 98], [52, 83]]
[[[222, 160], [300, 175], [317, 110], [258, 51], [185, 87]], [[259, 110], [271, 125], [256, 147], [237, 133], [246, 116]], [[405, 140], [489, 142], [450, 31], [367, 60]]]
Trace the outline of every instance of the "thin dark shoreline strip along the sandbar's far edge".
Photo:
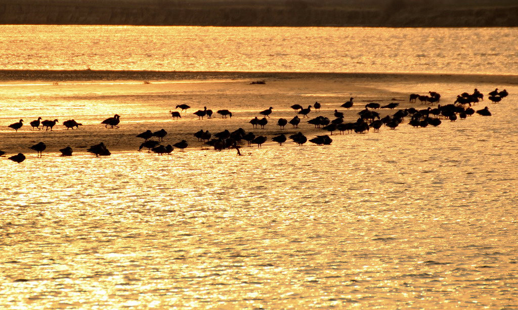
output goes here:
[[375, 79], [518, 84], [518, 75], [355, 72], [231, 72], [131, 70], [0, 70], [0, 81], [185, 81], [258, 79]]

